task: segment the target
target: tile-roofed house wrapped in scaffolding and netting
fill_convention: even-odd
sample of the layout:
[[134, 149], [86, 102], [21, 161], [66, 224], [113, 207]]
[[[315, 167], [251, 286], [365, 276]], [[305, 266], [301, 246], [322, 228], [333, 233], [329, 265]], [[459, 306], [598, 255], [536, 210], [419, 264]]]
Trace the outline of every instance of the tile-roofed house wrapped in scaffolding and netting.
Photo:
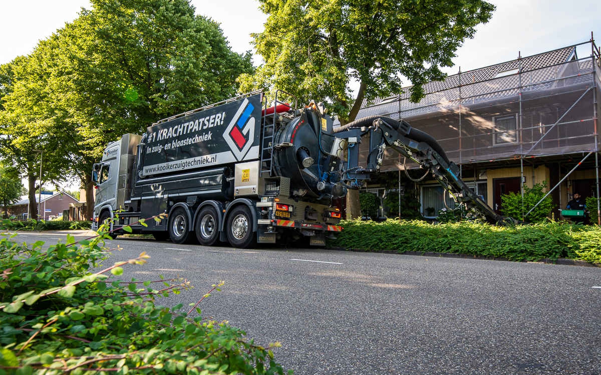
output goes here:
[[[435, 137], [476, 193], [499, 214], [501, 195], [546, 182], [558, 208], [572, 193], [599, 197], [600, 49], [594, 40], [489, 67], [459, 71], [424, 86], [419, 103], [409, 92], [364, 106], [359, 117], [404, 119]], [[383, 172], [418, 191], [421, 212], [436, 215], [450, 202], [416, 164], [387, 151]], [[405, 170], [406, 173], [400, 172]], [[368, 185], [383, 194], [383, 187]], [[595, 208], [596, 209], [596, 208]], [[559, 217], [560, 212], [557, 212]]]

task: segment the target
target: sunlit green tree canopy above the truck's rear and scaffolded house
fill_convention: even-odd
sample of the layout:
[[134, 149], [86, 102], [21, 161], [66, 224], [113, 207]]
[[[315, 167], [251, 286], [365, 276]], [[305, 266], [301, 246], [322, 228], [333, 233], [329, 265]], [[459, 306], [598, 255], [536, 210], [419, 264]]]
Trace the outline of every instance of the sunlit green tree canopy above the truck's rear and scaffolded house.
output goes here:
[[[303, 103], [325, 101], [341, 122], [355, 119], [364, 99], [398, 94], [403, 76], [411, 99], [423, 85], [441, 80], [441, 67], [494, 5], [482, 0], [260, 0], [268, 14], [254, 34], [264, 64], [241, 77], [296, 94]], [[351, 84], [358, 83], [356, 95]]]

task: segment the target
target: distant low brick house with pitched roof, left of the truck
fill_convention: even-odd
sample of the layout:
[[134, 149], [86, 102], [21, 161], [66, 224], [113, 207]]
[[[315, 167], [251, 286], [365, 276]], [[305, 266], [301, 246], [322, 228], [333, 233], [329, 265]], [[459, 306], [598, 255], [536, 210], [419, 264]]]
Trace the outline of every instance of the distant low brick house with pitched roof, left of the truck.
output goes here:
[[[40, 218], [44, 220], [52, 220], [54, 218], [62, 217], [63, 211], [69, 210], [69, 205], [72, 203], [79, 203], [77, 199], [72, 197], [65, 191], [42, 191], [41, 200], [40, 196], [36, 194], [35, 204], [40, 205]], [[19, 202], [8, 208], [8, 215], [14, 215], [20, 220], [26, 220], [29, 218], [29, 199], [27, 196], [22, 197]]]

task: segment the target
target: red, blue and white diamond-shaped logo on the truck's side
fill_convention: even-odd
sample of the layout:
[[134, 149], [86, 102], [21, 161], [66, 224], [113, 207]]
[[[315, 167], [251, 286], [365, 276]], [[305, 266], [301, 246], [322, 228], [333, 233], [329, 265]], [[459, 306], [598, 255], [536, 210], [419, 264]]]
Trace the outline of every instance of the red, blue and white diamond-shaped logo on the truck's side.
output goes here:
[[225, 142], [230, 146], [237, 160], [242, 160], [252, 147], [255, 136], [255, 118], [252, 116], [254, 109], [252, 103], [245, 99], [225, 128], [223, 134]]

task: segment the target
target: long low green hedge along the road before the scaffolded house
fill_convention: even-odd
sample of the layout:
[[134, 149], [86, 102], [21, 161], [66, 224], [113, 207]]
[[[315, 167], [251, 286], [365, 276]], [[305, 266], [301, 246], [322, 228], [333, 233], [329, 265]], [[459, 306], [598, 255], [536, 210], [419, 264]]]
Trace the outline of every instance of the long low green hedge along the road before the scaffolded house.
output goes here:
[[344, 220], [329, 247], [366, 251], [456, 253], [515, 261], [557, 260], [559, 257], [601, 264], [598, 226], [547, 222], [520, 226], [492, 226], [461, 221], [428, 224], [418, 220]]

